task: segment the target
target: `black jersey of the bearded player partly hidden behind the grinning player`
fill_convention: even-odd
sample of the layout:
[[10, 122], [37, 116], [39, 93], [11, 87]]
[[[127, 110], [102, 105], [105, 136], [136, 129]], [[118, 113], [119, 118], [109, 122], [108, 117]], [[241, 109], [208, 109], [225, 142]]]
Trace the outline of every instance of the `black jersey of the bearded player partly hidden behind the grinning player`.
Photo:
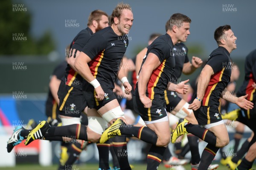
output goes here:
[[[91, 35], [93, 35], [93, 32], [90, 28], [87, 27], [86, 29], [81, 30], [70, 44], [70, 50], [77, 49], [81, 52]], [[69, 64], [67, 64], [65, 77], [61, 80], [68, 86], [82, 90], [83, 78], [74, 69], [72, 69]]]

